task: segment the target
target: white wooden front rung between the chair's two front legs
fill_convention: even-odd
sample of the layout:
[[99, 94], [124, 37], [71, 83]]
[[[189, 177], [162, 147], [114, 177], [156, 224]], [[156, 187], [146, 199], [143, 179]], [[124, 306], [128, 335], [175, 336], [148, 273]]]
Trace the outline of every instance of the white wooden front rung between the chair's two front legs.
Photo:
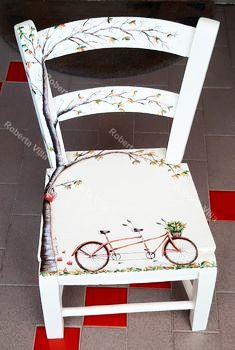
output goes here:
[[95, 305], [83, 307], [63, 307], [62, 316], [87, 316], [87, 315], [108, 315], [131, 312], [152, 312], [152, 311], [172, 311], [191, 310], [194, 304], [192, 301], [165, 301], [153, 303], [131, 303], [114, 305]]

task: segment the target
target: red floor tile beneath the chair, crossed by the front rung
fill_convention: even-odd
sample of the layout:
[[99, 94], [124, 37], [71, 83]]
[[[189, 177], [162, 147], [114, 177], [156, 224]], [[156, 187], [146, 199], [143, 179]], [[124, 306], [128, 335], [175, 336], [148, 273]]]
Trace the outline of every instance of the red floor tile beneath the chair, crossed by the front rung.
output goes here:
[[[86, 289], [86, 306], [126, 303], [127, 288], [87, 287]], [[127, 315], [85, 316], [83, 324], [84, 326], [126, 327]]]

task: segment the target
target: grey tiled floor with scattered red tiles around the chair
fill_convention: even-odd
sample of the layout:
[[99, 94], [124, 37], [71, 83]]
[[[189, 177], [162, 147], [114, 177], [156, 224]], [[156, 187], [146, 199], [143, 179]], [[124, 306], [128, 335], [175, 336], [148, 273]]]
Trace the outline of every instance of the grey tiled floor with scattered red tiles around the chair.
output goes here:
[[[235, 6], [216, 8], [221, 21], [197, 119], [185, 154], [217, 244], [219, 273], [207, 331], [192, 333], [188, 312], [71, 318], [64, 341], [45, 340], [37, 287], [37, 241], [47, 161], [19, 55], [0, 38], [0, 349], [1, 350], [233, 350], [235, 344]], [[88, 79], [52, 72], [60, 86], [78, 89], [109, 84], [139, 84], [177, 90], [183, 63], [124, 79]], [[15, 82], [17, 80], [18, 82]], [[3, 83], [3, 84], [1, 84]], [[7, 130], [9, 121], [28, 143]], [[136, 147], [165, 145], [167, 119], [143, 115], [92, 116], [64, 123], [68, 149], [113, 148], [120, 144], [110, 128]], [[36, 146], [35, 146], [36, 145]], [[184, 298], [182, 286], [148, 285], [119, 290], [67, 287], [64, 303], [107, 296], [118, 302]], [[148, 287], [148, 288], [147, 288]], [[112, 292], [112, 293], [110, 293]], [[93, 300], [94, 302], [94, 300]], [[72, 327], [72, 328], [69, 328]], [[35, 333], [36, 332], [36, 333]], [[35, 345], [34, 344], [35, 338]]]

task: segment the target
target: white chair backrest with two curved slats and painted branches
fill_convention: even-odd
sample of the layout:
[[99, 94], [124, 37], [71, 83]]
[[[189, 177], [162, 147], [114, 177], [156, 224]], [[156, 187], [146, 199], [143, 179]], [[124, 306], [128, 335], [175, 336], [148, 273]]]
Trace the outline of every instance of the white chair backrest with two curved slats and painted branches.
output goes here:
[[[52, 167], [67, 163], [59, 123], [94, 113], [143, 112], [174, 118], [166, 161], [180, 163], [219, 22], [200, 18], [196, 28], [142, 17], [79, 20], [37, 31], [31, 20], [15, 26], [42, 137]], [[165, 51], [188, 62], [179, 94], [150, 88], [111, 86], [70, 92], [53, 98], [45, 61], [102, 48]]]

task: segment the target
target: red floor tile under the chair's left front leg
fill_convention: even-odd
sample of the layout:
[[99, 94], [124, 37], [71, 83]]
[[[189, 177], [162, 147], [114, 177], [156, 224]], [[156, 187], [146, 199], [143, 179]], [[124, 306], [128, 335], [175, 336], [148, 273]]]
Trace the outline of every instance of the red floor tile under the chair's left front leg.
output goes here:
[[45, 327], [37, 327], [33, 350], [79, 350], [80, 328], [65, 328], [63, 339], [47, 339]]

